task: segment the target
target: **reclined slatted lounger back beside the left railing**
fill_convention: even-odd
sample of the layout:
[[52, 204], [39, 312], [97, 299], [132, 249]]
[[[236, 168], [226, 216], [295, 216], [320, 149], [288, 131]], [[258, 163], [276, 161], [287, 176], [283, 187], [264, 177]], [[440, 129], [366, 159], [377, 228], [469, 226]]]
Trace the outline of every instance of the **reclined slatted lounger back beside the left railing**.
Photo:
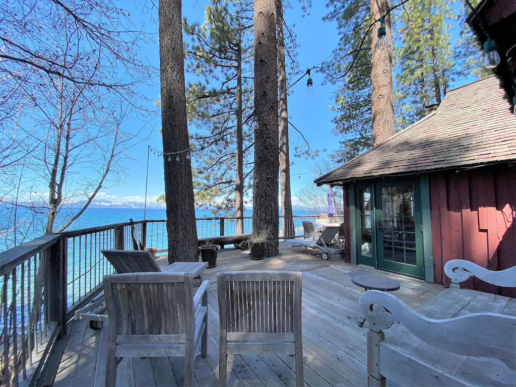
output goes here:
[[147, 250], [101, 250], [117, 273], [160, 272]]

